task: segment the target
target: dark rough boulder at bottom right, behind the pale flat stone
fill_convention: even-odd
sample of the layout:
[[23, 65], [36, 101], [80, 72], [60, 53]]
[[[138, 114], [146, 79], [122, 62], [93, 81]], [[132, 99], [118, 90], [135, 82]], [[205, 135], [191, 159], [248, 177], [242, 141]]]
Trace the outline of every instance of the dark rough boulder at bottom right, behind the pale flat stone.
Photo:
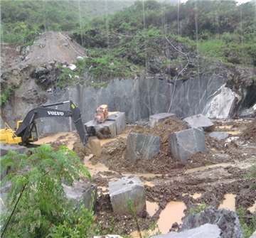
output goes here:
[[213, 207], [208, 207], [206, 210], [196, 215], [188, 215], [188, 217], [183, 220], [181, 229], [191, 229], [206, 223], [218, 225], [221, 229], [222, 238], [243, 237], [238, 215], [230, 210], [218, 210]]

